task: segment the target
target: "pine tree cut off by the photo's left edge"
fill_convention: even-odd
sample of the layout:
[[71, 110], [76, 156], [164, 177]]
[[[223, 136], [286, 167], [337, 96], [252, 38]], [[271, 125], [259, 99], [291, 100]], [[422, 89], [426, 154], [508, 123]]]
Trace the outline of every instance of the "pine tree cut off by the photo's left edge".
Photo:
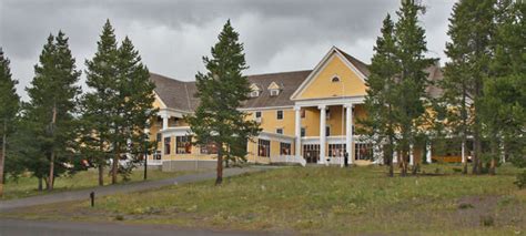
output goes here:
[[20, 109], [20, 96], [17, 94], [17, 89], [14, 88], [17, 83], [18, 81], [11, 78], [9, 59], [3, 55], [3, 50], [0, 48], [0, 134], [2, 136], [0, 153], [0, 198], [3, 196], [3, 167], [7, 158], [8, 135], [11, 135], [13, 131], [17, 113]]

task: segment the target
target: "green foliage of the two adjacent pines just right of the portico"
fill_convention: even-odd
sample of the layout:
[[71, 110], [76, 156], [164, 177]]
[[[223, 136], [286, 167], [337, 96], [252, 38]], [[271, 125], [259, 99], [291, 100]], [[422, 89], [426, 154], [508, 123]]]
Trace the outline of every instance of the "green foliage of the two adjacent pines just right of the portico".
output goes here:
[[425, 31], [418, 25], [418, 14], [424, 10], [414, 1], [403, 1], [396, 23], [390, 16], [385, 18], [370, 66], [365, 98], [370, 115], [362, 123], [377, 145], [386, 144], [384, 152], [390, 162], [393, 150], [399, 150], [405, 158], [409, 145], [425, 136], [419, 130], [425, 121], [425, 107], [431, 104], [426, 93], [431, 81], [425, 69], [433, 60], [424, 57]]

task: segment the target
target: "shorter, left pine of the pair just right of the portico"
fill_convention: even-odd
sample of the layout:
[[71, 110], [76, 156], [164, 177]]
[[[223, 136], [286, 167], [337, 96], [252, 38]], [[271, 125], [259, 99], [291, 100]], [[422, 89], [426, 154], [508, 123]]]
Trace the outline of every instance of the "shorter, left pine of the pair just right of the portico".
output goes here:
[[368, 136], [375, 138], [375, 143], [383, 146], [384, 160], [388, 164], [388, 175], [393, 176], [393, 152], [396, 141], [395, 121], [393, 116], [392, 89], [396, 85], [395, 76], [399, 73], [396, 59], [396, 48], [394, 39], [394, 22], [391, 16], [383, 21], [382, 37], [376, 39], [370, 66], [371, 74], [366, 79], [368, 88], [365, 96], [365, 109], [367, 116], [360, 120], [365, 126]]

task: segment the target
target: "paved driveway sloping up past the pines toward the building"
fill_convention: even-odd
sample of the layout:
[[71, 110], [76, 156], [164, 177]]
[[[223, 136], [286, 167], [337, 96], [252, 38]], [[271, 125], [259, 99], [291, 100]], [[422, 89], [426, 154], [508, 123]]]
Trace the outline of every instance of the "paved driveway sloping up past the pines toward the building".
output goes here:
[[[272, 168], [271, 166], [251, 166], [243, 168], [226, 168], [223, 172], [223, 177], [239, 175], [243, 173], [260, 172]], [[165, 178], [159, 181], [146, 181], [136, 182], [131, 184], [121, 185], [108, 185], [102, 187], [87, 188], [82, 191], [62, 192], [55, 194], [45, 194], [40, 196], [32, 196], [21, 199], [2, 201], [0, 202], [0, 212], [7, 212], [19, 207], [36, 206], [60, 202], [82, 201], [89, 199], [90, 193], [94, 192], [95, 197], [118, 194], [118, 193], [131, 193], [138, 191], [145, 191], [152, 188], [159, 188], [163, 186], [170, 186], [174, 184], [194, 183], [205, 179], [214, 179], [215, 171], [209, 171], [198, 174], [181, 175], [174, 178]], [[1, 235], [0, 235], [1, 236]]]

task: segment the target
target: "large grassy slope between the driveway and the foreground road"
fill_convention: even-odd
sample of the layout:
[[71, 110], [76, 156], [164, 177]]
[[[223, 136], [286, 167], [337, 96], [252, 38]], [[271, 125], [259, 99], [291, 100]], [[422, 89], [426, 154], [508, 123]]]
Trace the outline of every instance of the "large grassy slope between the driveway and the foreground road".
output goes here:
[[425, 173], [386, 177], [385, 167], [284, 167], [88, 202], [20, 209], [6, 217], [313, 235], [524, 235], [526, 191], [518, 170], [463, 176], [459, 165], [425, 165]]

